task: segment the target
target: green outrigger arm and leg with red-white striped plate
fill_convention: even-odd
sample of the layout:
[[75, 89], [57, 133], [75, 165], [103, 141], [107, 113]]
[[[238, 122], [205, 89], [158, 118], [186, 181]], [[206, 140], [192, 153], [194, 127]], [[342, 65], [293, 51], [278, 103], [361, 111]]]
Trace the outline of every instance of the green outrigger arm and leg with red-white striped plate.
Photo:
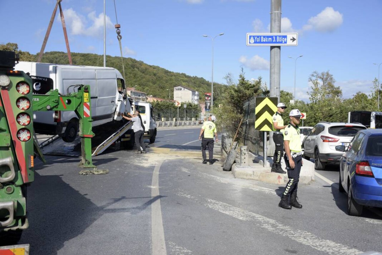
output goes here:
[[60, 95], [58, 90], [50, 90], [45, 95], [33, 95], [33, 111], [75, 111], [79, 118], [79, 136], [81, 137], [80, 167], [95, 168], [92, 164], [92, 132], [90, 86], [78, 85], [78, 92]]

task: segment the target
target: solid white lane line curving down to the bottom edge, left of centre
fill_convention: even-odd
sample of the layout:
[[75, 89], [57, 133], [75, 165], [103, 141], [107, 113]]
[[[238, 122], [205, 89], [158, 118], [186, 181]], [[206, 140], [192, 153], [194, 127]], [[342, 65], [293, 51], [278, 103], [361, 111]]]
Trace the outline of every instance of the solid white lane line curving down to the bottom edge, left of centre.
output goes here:
[[[155, 165], [151, 181], [151, 197], [159, 196], [159, 170], [163, 161]], [[152, 235], [152, 255], [167, 255], [165, 233], [163, 230], [162, 210], [160, 208], [160, 198], [151, 205], [151, 235]]]

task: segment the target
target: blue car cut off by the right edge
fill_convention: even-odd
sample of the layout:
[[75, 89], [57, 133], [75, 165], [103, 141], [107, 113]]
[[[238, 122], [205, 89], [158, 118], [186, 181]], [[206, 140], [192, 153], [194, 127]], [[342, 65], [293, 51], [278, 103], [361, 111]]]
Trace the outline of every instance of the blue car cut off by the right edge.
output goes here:
[[348, 214], [360, 216], [364, 206], [382, 207], [382, 129], [358, 131], [340, 159], [339, 190], [348, 194]]

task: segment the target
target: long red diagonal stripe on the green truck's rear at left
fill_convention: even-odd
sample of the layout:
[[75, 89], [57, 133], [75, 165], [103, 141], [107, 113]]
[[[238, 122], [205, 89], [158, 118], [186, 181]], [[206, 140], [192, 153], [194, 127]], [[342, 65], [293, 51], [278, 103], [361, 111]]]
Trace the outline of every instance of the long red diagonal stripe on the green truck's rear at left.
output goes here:
[[13, 143], [15, 145], [15, 151], [17, 156], [17, 161], [20, 166], [21, 176], [23, 177], [23, 181], [28, 182], [28, 173], [26, 169], [26, 162], [25, 162], [25, 156], [24, 156], [24, 150], [23, 145], [21, 144], [21, 141], [17, 138], [17, 126], [16, 126], [16, 119], [15, 114], [13, 113], [11, 100], [9, 98], [8, 90], [2, 89], [0, 90], [0, 93], [3, 98], [4, 108], [6, 112], [6, 118], [8, 119], [9, 128], [11, 131], [11, 136], [13, 137]]

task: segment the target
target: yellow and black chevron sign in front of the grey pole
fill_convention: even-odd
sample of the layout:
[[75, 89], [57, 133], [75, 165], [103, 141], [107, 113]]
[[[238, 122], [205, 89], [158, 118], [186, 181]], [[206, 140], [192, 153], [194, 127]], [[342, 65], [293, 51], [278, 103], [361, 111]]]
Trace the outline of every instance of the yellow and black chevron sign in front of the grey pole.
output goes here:
[[256, 97], [255, 130], [272, 131], [272, 115], [277, 111], [277, 97]]

